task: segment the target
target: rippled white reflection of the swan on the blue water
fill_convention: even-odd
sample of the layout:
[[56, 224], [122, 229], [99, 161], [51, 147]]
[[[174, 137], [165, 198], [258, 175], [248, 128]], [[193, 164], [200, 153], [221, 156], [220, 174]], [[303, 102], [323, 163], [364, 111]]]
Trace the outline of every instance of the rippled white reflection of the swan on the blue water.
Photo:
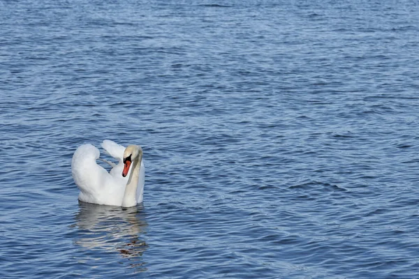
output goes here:
[[75, 243], [89, 250], [118, 252], [130, 260], [131, 267], [142, 271], [142, 253], [147, 250], [147, 243], [141, 239], [147, 228], [144, 207], [138, 204], [123, 209], [80, 201], [79, 206]]

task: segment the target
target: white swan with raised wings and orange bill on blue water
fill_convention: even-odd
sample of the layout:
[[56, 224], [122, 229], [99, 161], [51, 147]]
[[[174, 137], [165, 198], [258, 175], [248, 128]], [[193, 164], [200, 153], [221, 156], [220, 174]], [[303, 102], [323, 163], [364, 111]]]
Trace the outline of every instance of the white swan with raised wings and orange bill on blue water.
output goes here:
[[[104, 140], [102, 147], [119, 161], [117, 165], [99, 158], [99, 149], [91, 144], [83, 144], [74, 152], [71, 172], [80, 189], [80, 201], [124, 207], [142, 202], [145, 167], [141, 147], [130, 145], [125, 149], [110, 140]], [[96, 163], [98, 159], [112, 166], [110, 172]]]

